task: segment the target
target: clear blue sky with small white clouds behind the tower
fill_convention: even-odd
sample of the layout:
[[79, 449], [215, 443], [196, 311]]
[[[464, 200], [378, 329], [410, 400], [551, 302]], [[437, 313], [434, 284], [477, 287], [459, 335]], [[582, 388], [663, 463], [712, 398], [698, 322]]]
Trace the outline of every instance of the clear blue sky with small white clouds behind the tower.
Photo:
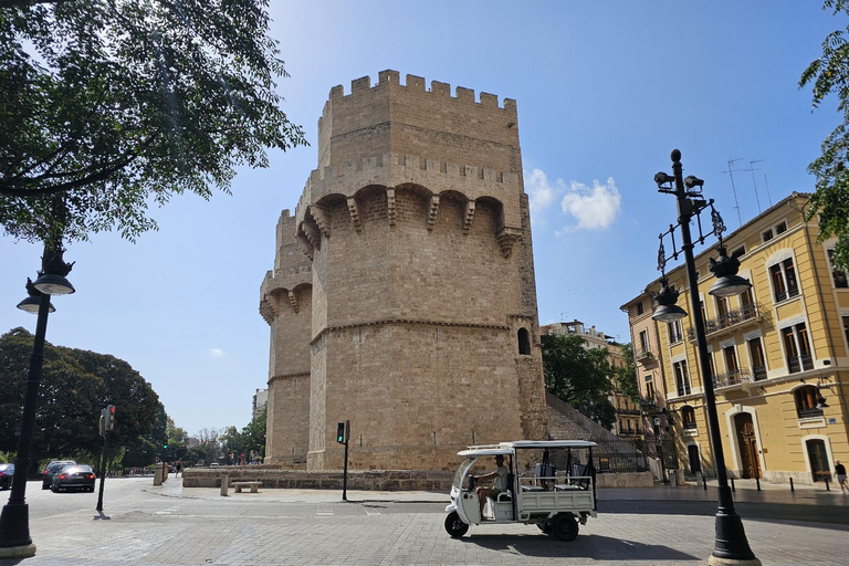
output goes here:
[[[670, 151], [681, 149], [684, 175], [705, 180], [734, 230], [737, 212], [745, 222], [758, 201], [811, 189], [807, 164], [839, 119], [834, 101], [811, 113], [796, 86], [825, 35], [846, 28], [816, 1], [274, 0], [271, 15], [292, 75], [280, 81], [283, 107], [312, 147], [240, 171], [231, 197], [151, 210], [160, 229], [136, 244], [98, 234], [71, 245], [77, 292], [53, 300], [48, 326], [53, 344], [127, 360], [192, 434], [243, 427], [265, 387], [259, 286], [276, 219], [316, 166], [334, 85], [347, 93], [350, 80], [394, 69], [516, 99], [539, 319], [578, 318], [622, 342], [619, 305], [657, 276], [657, 235], [674, 222], [674, 199], [652, 181], [671, 172]], [[723, 174], [732, 158], [756, 168], [733, 172], [736, 202]], [[0, 238], [0, 332], [34, 332], [15, 304], [39, 256]]]

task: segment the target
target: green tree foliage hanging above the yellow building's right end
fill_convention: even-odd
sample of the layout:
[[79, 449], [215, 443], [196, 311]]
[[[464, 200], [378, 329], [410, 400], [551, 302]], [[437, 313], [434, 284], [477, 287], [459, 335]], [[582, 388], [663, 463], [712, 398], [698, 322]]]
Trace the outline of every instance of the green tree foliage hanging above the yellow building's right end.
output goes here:
[[[824, 10], [849, 15], [848, 0], [826, 0]], [[808, 165], [816, 176], [816, 192], [810, 199], [808, 219], [818, 218], [821, 242], [837, 237], [835, 263], [849, 270], [849, 44], [846, 32], [836, 30], [822, 41], [822, 54], [814, 60], [799, 78], [799, 87], [813, 84], [814, 108], [828, 96], [838, 97], [837, 109], [842, 114], [839, 124], [822, 142], [822, 155]]]

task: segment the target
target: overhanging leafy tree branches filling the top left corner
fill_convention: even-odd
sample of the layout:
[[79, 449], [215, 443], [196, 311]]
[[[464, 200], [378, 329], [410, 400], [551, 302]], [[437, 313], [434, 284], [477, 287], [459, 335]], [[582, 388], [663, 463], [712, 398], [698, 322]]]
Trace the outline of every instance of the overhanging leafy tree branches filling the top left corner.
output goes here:
[[[156, 228], [149, 203], [229, 192], [266, 148], [305, 144], [269, 0], [1, 0], [0, 226], [86, 239]], [[52, 220], [60, 195], [66, 218]]]

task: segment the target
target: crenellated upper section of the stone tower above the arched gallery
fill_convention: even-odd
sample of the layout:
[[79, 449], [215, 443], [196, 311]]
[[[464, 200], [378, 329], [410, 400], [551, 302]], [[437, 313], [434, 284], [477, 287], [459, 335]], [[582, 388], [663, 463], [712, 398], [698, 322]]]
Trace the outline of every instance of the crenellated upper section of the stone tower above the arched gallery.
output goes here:
[[[381, 71], [331, 88], [318, 119], [318, 168], [396, 153], [437, 160], [473, 163], [521, 174], [516, 102], [494, 94]], [[390, 127], [391, 124], [391, 127]], [[422, 148], [427, 154], [422, 155]], [[369, 151], [365, 154], [365, 151]]]

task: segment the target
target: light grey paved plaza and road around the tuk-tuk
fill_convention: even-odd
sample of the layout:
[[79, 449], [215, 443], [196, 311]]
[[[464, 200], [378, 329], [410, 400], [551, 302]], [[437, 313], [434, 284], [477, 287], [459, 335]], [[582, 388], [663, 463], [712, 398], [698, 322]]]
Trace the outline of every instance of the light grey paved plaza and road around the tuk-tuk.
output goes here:
[[[28, 485], [38, 553], [0, 565], [675, 565], [705, 564], [715, 490], [604, 490], [599, 516], [562, 543], [534, 526], [472, 526], [450, 538], [443, 493], [186, 489], [179, 479], [106, 481], [94, 494]], [[737, 484], [735, 499], [764, 565], [845, 565], [849, 496], [839, 491]]]

